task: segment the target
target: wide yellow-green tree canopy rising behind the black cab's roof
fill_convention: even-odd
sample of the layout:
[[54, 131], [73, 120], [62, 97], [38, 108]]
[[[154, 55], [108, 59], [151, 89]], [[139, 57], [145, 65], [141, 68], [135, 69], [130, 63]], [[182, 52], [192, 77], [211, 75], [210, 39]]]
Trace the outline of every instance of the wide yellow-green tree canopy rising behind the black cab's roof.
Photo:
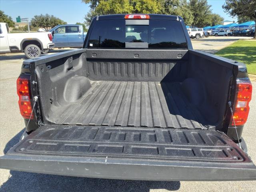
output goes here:
[[[217, 14], [212, 14], [206, 0], [82, 0], [90, 4], [90, 11], [84, 17], [90, 25], [92, 18], [104, 14], [155, 13], [178, 15], [186, 25], [203, 27], [223, 21]], [[212, 16], [214, 18], [212, 19]]]

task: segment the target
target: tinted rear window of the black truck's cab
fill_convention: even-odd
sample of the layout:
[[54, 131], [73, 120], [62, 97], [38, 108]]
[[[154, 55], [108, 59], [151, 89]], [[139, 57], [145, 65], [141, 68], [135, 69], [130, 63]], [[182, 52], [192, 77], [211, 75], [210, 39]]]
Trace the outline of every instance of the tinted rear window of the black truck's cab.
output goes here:
[[[148, 43], [148, 49], [187, 49], [181, 24], [150, 20], [149, 25], [125, 25], [125, 20], [100, 20], [93, 28], [88, 48], [126, 48], [127, 43]], [[134, 44], [136, 48], [136, 44]]]

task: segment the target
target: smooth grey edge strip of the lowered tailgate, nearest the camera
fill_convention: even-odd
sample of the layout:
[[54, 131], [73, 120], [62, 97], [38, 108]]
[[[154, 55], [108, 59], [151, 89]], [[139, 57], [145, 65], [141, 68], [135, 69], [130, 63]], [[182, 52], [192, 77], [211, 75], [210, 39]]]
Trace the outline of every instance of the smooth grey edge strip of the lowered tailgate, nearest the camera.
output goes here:
[[[15, 166], [14, 166], [15, 165]], [[253, 165], [202, 164], [109, 158], [11, 156], [1, 158], [1, 168], [90, 178], [161, 181], [255, 180]]]

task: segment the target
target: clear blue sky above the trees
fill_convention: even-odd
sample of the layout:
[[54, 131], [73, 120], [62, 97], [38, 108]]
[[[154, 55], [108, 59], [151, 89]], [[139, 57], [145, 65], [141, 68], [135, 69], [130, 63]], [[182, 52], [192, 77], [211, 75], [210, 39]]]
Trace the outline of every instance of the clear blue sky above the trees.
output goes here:
[[[224, 2], [224, 0], [208, 0], [213, 13], [220, 14], [224, 20], [236, 21], [235, 18], [223, 11]], [[82, 3], [82, 0], [0, 0], [0, 10], [11, 16], [14, 22], [18, 16], [30, 20], [35, 15], [48, 13], [68, 24], [75, 24], [76, 22], [84, 22], [84, 15], [90, 8], [88, 4]]]

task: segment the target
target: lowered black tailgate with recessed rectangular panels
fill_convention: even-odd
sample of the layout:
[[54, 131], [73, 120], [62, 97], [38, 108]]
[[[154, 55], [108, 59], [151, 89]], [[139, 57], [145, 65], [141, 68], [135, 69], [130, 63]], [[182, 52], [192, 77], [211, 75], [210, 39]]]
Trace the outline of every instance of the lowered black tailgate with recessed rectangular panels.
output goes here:
[[256, 166], [211, 130], [47, 125], [1, 157], [0, 168], [127, 180], [255, 180]]

